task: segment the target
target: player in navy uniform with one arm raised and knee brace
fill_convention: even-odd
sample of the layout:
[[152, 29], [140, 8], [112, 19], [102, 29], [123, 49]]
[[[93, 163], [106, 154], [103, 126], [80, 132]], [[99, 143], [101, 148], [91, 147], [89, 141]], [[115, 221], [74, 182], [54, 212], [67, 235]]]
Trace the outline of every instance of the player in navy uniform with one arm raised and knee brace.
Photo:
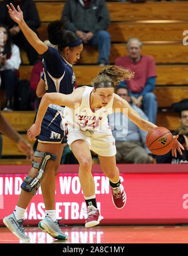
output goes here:
[[[23, 13], [13, 4], [7, 6], [11, 18], [18, 23], [24, 36], [33, 48], [43, 57], [44, 77], [39, 81], [37, 94], [43, 96], [46, 92], [71, 94], [75, 87], [75, 74], [72, 65], [80, 58], [83, 50], [81, 40], [73, 32], [65, 31], [66, 21], [53, 21], [48, 25], [48, 39], [58, 46], [58, 50], [48, 47], [39, 40], [26, 25]], [[26, 208], [41, 185], [45, 204], [45, 218], [39, 222], [39, 228], [56, 239], [65, 240], [68, 237], [61, 231], [55, 212], [56, 174], [63, 153], [64, 131], [61, 125], [63, 106], [51, 104], [46, 111], [38, 136], [38, 146], [34, 153], [31, 170], [21, 184], [21, 194], [14, 212], [3, 219], [4, 224], [18, 238], [29, 241], [23, 228], [23, 218]]]

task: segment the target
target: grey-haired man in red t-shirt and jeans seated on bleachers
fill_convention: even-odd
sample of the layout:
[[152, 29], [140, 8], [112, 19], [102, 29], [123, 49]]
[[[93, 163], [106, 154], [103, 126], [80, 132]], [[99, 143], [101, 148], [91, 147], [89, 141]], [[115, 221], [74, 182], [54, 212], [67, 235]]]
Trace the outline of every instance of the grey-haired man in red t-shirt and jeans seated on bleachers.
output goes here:
[[141, 55], [142, 42], [137, 38], [131, 38], [127, 42], [127, 56], [118, 57], [115, 65], [129, 68], [135, 72], [135, 78], [131, 81], [122, 81], [130, 91], [132, 103], [143, 108], [149, 121], [155, 123], [157, 116], [157, 99], [154, 94], [157, 73], [155, 61], [152, 56]]

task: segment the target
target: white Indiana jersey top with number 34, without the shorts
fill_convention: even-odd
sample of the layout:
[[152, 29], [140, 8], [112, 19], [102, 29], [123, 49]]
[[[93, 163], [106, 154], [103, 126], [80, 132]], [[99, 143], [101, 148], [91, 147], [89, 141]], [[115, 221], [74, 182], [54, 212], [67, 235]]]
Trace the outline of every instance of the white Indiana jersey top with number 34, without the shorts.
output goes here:
[[93, 87], [85, 86], [83, 92], [82, 101], [80, 107], [71, 109], [65, 107], [63, 116], [64, 125], [67, 125], [68, 130], [76, 128], [76, 130], [93, 130], [99, 132], [112, 132], [108, 125], [108, 114], [112, 113], [113, 97], [112, 101], [108, 103], [106, 107], [100, 109], [91, 110], [90, 97]]

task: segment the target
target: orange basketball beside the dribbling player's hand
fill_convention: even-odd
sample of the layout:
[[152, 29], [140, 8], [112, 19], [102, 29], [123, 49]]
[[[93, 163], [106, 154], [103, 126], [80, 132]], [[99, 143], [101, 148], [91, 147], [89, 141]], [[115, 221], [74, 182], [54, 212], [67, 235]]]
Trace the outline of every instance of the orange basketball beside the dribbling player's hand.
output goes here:
[[172, 149], [173, 135], [165, 127], [156, 127], [147, 133], [145, 143], [150, 152], [164, 155]]

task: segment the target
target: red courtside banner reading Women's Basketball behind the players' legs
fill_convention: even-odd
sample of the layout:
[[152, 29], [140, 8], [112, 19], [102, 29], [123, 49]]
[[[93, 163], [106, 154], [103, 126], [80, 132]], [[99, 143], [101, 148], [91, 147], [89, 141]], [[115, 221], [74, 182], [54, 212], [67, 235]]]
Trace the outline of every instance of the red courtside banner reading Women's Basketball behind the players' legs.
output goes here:
[[[179, 224], [188, 222], [188, 172], [184, 170], [185, 165], [176, 165], [176, 173], [169, 173], [167, 170], [167, 166], [172, 167], [172, 165], [158, 165], [159, 173], [152, 172], [152, 170], [145, 173], [134, 173], [131, 170], [128, 171], [127, 166], [129, 165], [124, 165], [126, 172], [122, 172], [120, 168], [121, 181], [127, 194], [127, 203], [123, 209], [113, 206], [108, 178], [100, 171], [93, 173], [97, 205], [103, 216], [101, 224]], [[131, 166], [135, 167], [135, 165]], [[15, 169], [14, 166], [9, 165], [9, 170], [11, 168]], [[77, 169], [76, 165], [75, 168]], [[164, 173], [161, 172], [162, 168], [164, 168]], [[1, 171], [0, 225], [3, 225], [4, 216], [13, 212], [21, 192], [20, 185], [26, 175], [26, 173], [3, 174]], [[85, 209], [86, 204], [78, 173], [60, 172], [56, 178], [57, 218], [63, 218], [65, 224], [85, 223]], [[25, 218], [30, 225], [37, 225], [39, 220], [44, 218], [41, 189], [29, 204]]]

